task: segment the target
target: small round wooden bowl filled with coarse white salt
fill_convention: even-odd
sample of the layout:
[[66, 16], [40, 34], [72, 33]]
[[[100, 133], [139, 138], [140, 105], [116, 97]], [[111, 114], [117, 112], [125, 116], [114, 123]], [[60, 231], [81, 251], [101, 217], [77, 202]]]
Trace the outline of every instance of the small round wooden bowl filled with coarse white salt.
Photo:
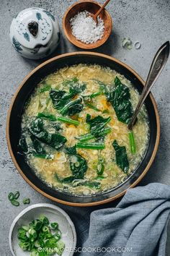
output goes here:
[[92, 49], [102, 46], [112, 32], [112, 18], [104, 9], [98, 17], [98, 25], [90, 17], [101, 7], [95, 1], [79, 1], [73, 4], [63, 16], [63, 30], [75, 46]]

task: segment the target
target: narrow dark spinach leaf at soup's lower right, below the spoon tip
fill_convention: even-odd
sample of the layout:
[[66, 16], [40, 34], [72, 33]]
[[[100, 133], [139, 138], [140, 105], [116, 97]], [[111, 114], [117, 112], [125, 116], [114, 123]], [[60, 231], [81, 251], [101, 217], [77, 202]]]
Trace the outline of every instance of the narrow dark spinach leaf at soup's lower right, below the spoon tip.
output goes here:
[[126, 148], [125, 146], [121, 147], [120, 145], [118, 145], [117, 140], [114, 140], [112, 145], [113, 148], [115, 148], [117, 166], [119, 166], [122, 169], [122, 171], [124, 171], [126, 174], [129, 169], [129, 161], [126, 153]]

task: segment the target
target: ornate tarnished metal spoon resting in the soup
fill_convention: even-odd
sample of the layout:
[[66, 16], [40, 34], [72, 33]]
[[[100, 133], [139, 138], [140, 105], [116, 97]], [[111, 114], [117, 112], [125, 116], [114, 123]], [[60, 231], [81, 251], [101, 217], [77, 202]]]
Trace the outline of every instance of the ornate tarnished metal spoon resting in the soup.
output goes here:
[[130, 129], [130, 130], [133, 129], [133, 126], [135, 124], [136, 117], [138, 116], [140, 108], [143, 106], [143, 103], [146, 100], [148, 93], [150, 93], [151, 88], [153, 87], [154, 83], [156, 82], [156, 80], [158, 79], [162, 70], [164, 69], [168, 58], [169, 58], [169, 41], [164, 43], [158, 49], [156, 55], [154, 56], [154, 59], [152, 61], [151, 68], [149, 70], [148, 77], [146, 80], [146, 85], [144, 86], [142, 94], [140, 95], [140, 99], [139, 99], [137, 107], [135, 108], [135, 112], [132, 116], [132, 119], [130, 120], [130, 123], [128, 124], [128, 129]]

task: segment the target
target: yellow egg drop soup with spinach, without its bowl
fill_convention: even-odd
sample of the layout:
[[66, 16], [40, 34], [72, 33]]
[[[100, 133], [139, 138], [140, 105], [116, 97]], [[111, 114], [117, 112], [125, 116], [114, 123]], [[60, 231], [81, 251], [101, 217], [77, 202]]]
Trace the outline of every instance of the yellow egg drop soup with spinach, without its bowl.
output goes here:
[[149, 139], [143, 106], [127, 124], [138, 91], [99, 65], [65, 67], [35, 88], [22, 116], [19, 153], [46, 184], [74, 195], [112, 189], [135, 171]]

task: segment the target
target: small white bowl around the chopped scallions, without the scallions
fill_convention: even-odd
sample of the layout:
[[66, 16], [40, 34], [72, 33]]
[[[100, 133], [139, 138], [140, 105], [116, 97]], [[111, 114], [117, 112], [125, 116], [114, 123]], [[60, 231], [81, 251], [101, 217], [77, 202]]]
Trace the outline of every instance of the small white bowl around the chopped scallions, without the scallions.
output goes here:
[[[48, 203], [30, 205], [14, 219], [9, 230], [9, 247], [13, 256], [29, 256], [30, 252], [24, 252], [19, 247], [17, 238], [18, 229], [24, 224], [30, 223], [35, 218], [43, 214], [50, 222], [57, 222], [62, 233], [62, 241], [65, 243], [65, 250], [62, 256], [72, 256], [76, 247], [76, 229], [68, 214], [61, 208]], [[55, 254], [57, 255], [57, 253]]]

